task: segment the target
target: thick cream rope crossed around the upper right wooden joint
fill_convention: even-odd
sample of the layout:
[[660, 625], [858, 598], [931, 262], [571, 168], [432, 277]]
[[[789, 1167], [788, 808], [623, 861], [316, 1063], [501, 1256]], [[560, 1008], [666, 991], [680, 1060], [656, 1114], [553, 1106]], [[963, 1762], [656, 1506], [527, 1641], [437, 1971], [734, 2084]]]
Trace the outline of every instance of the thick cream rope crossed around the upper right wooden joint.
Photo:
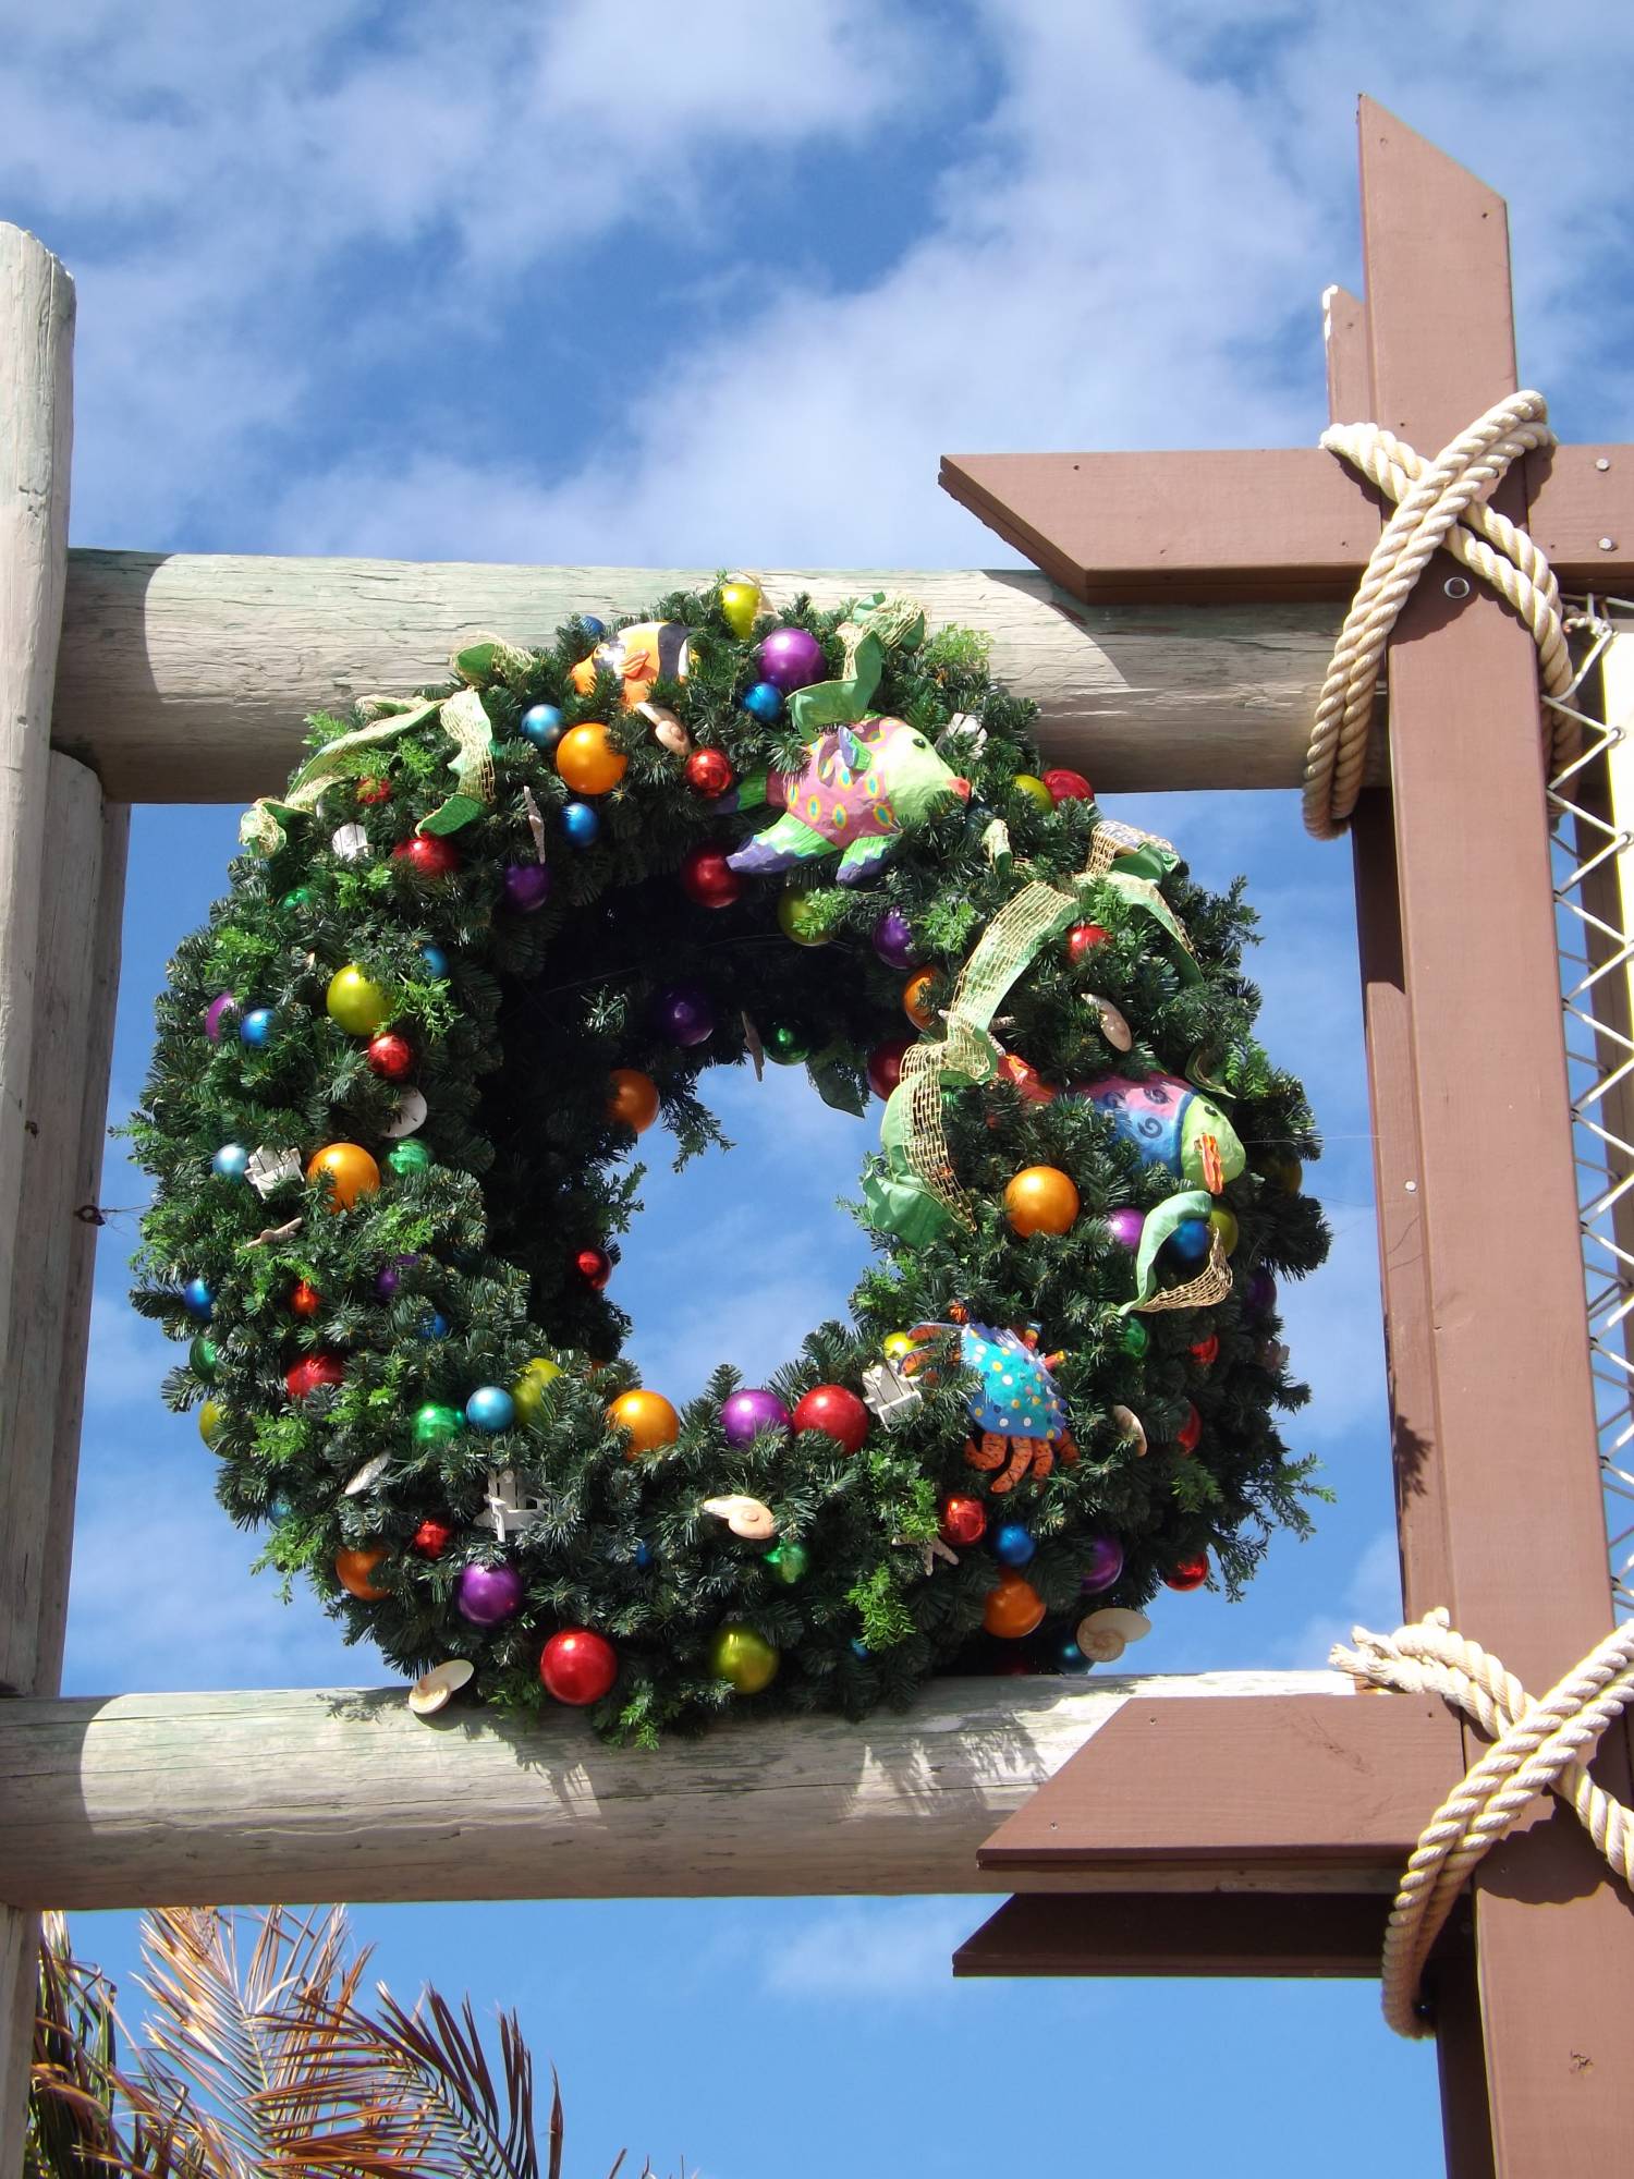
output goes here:
[[[1336, 839], [1355, 811], [1368, 756], [1379, 665], [1397, 614], [1438, 547], [1490, 582], [1514, 606], [1538, 645], [1547, 695], [1571, 684], [1560, 586], [1525, 529], [1486, 506], [1505, 471], [1523, 453], [1553, 447], [1542, 394], [1521, 392], [1499, 401], [1449, 447], [1425, 462], [1375, 423], [1342, 423], [1322, 431], [1322, 447], [1370, 477], [1397, 512], [1386, 523], [1344, 614], [1333, 662], [1316, 704], [1305, 754], [1305, 826]], [[1558, 741], [1571, 741], [1571, 721], [1551, 715]]]

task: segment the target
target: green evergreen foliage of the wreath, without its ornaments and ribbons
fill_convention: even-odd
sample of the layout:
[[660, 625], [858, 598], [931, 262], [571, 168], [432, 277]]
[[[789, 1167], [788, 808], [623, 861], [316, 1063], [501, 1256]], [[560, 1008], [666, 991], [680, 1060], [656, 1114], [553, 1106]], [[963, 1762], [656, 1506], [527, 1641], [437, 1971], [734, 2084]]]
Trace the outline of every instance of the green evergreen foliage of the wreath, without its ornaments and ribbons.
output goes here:
[[[654, 702], [673, 708], [697, 747], [725, 752], [741, 782], [767, 765], [797, 767], [800, 734], [789, 721], [765, 726], [741, 708], [760, 678], [754, 647], [771, 625], [802, 625], [821, 638], [828, 671], [839, 675], [843, 614], [797, 599], [776, 623], [763, 617], [749, 641], [730, 632], [717, 593], [667, 597], [656, 614], [695, 634], [686, 678], [660, 682]], [[1124, 1547], [1122, 1578], [1096, 1604], [1148, 1602], [1198, 1551], [1214, 1556], [1235, 1591], [1277, 1525], [1307, 1527], [1312, 1490], [1309, 1462], [1288, 1456], [1275, 1423], [1305, 1392], [1285, 1375], [1275, 1310], [1253, 1305], [1253, 1275], [1307, 1273], [1327, 1246], [1318, 1209], [1288, 1174], [1292, 1159], [1316, 1155], [1303, 1092], [1253, 1037], [1257, 994], [1242, 974], [1253, 915], [1242, 889], [1205, 893], [1183, 865], [1163, 880], [1200, 967], [1183, 974], [1179, 948], [1150, 915], [1115, 887], [1083, 880], [1098, 806], [1041, 808], [1017, 791], [1015, 776], [1039, 769], [1033, 710], [989, 682], [980, 638], [948, 630], [891, 647], [869, 708], [909, 719], [932, 741], [959, 715], [978, 721], [985, 739], [946, 743], [972, 782], [970, 802], [948, 800], [941, 815], [904, 832], [865, 887], [834, 885], [832, 861], [802, 865], [786, 882], [810, 893], [808, 913], [828, 944], [795, 946], [776, 913], [784, 880], [749, 878], [741, 900], [719, 911], [682, 893], [675, 872], [691, 850], [739, 843], [765, 813], [723, 815], [693, 791], [682, 758], [658, 743], [645, 715], [621, 708], [608, 673], [588, 695], [575, 693], [571, 669], [595, 641], [595, 630], [573, 621], [551, 649], [499, 647], [481, 669], [471, 667], [492, 726], [495, 795], [451, 835], [453, 876], [425, 878], [392, 854], [451, 789], [449, 741], [431, 715], [394, 741], [351, 752], [349, 776], [314, 815], [288, 824], [283, 848], [233, 865], [231, 893], [176, 950], [133, 1124], [157, 1179], [135, 1303], [174, 1338], [194, 1340], [200, 1323], [183, 1286], [203, 1279], [214, 1294], [205, 1327], [214, 1362], [194, 1347], [166, 1379], [166, 1397], [174, 1408], [218, 1403], [214, 1451], [227, 1510], [246, 1527], [261, 1525], [264, 1562], [285, 1578], [305, 1573], [353, 1636], [368, 1634], [405, 1673], [471, 1658], [475, 1693], [490, 1702], [549, 1704], [542, 1641], [558, 1628], [597, 1630], [617, 1647], [619, 1680], [593, 1717], [634, 1741], [730, 1704], [863, 1715], [902, 1702], [930, 1671], [998, 1669], [1017, 1654], [1033, 1669], [1054, 1669], [1072, 1656], [1063, 1645], [1087, 1608], [1078, 1584], [1096, 1536]], [[623, 782], [597, 800], [601, 828], [586, 848], [564, 841], [560, 813], [573, 795], [551, 756], [519, 730], [538, 702], [560, 706], [569, 728], [608, 721], [627, 754]], [[314, 719], [314, 747], [355, 726]], [[390, 789], [386, 798], [377, 782]], [[508, 911], [503, 896], [505, 865], [536, 854], [525, 791], [542, 817], [553, 876], [549, 904], [532, 915]], [[1009, 852], [998, 852], [996, 817]], [[338, 826], [362, 826], [370, 852], [338, 854]], [[998, 1035], [1057, 1087], [1100, 1072], [1187, 1068], [1218, 1085], [1248, 1151], [1248, 1170], [1222, 1196], [1240, 1222], [1233, 1294], [1211, 1310], [1142, 1316], [1150, 1338], [1133, 1355], [1129, 1318], [1118, 1314], [1133, 1292], [1133, 1257], [1105, 1214], [1150, 1209], [1181, 1183], [1163, 1166], [1142, 1166], [1092, 1103], [1037, 1105], [1000, 1081], [943, 1098], [952, 1161], [976, 1203], [974, 1231], [917, 1249], [880, 1238], [852, 1297], [852, 1323], [819, 1325], [771, 1381], [791, 1408], [815, 1384], [858, 1390], [887, 1334], [948, 1325], [959, 1305], [983, 1325], [1041, 1327], [1039, 1351], [1063, 1355], [1057, 1388], [1081, 1458], [989, 1499], [993, 1527], [1024, 1523], [1037, 1538], [1026, 1580], [1048, 1617], [1017, 1645], [980, 1632], [998, 1575], [985, 1545], [963, 1549], [956, 1565], [937, 1556], [926, 1571], [922, 1545], [937, 1534], [941, 1501], [989, 1488], [965, 1462], [972, 1377], [946, 1349], [941, 1366], [915, 1379], [922, 1403], [889, 1429], [874, 1419], [856, 1456], [813, 1432], [763, 1434], [730, 1449], [719, 1408], [736, 1377], [721, 1368], [706, 1397], [686, 1405], [678, 1442], [632, 1460], [606, 1416], [610, 1399], [634, 1384], [619, 1360], [627, 1323], [586, 1283], [575, 1255], [608, 1246], [617, 1262], [617, 1235], [636, 1209], [632, 1135], [606, 1118], [612, 1068], [638, 1068], [658, 1085], [678, 1159], [717, 1140], [699, 1074], [747, 1063], [749, 1024], [767, 1046], [773, 1031], [793, 1031], [821, 1094], [863, 1109], [867, 1052], [909, 1026], [904, 976], [869, 941], [880, 913], [895, 906], [909, 917], [919, 959], [935, 972], [932, 1002], [946, 1005], [983, 928], [1031, 878], [1076, 887], [1085, 917], [1107, 937], [1087, 963], [1046, 944], [1004, 1000]], [[447, 957], [447, 974], [427, 965], [427, 946]], [[401, 1085], [370, 1072], [364, 1039], [325, 1011], [329, 978], [346, 963], [392, 994], [392, 1026], [414, 1046], [410, 1079], [429, 1107], [414, 1135], [429, 1153], [425, 1170], [388, 1166], [386, 1129]], [[654, 1028], [654, 998], [675, 985], [712, 994], [708, 1044], [680, 1048]], [[203, 1015], [222, 991], [235, 994], [237, 1015], [209, 1042]], [[1107, 1044], [1089, 994], [1126, 1018], [1129, 1055]], [[259, 1046], [235, 1035], [251, 1007], [272, 1009]], [[211, 1168], [222, 1144], [240, 1144], [292, 1151], [305, 1170], [316, 1148], [338, 1140], [381, 1164], [379, 1192], [342, 1212], [322, 1183], [294, 1179], [264, 1201], [244, 1179]], [[1020, 1240], [1004, 1185], [1035, 1164], [1063, 1168], [1083, 1212], [1063, 1235]], [[392, 1264], [399, 1286], [383, 1297], [377, 1275]], [[708, 1279], [710, 1266], [682, 1262], [675, 1273]], [[1179, 1277], [1166, 1273], [1170, 1286]], [[296, 1281], [320, 1297], [309, 1318], [292, 1314]], [[447, 1336], [423, 1336], [431, 1312]], [[1218, 1358], [1205, 1364], [1194, 1347], [1209, 1334]], [[292, 1401], [285, 1371], [316, 1353], [340, 1355], [344, 1381]], [[536, 1355], [562, 1375], [532, 1425], [519, 1416], [499, 1436], [466, 1427], [447, 1442], [416, 1440], [423, 1405], [462, 1408], [477, 1386], [512, 1386]], [[1187, 1453], [1179, 1432], [1190, 1403], [1203, 1434]], [[1142, 1419], [1144, 1453], [1113, 1419], [1118, 1405]], [[377, 1456], [383, 1473], [346, 1495], [349, 1477]], [[475, 1525], [490, 1469], [514, 1469], [542, 1501], [536, 1523], [503, 1545]], [[808, 1554], [804, 1578], [780, 1580], [767, 1543], [743, 1541], [702, 1510], [721, 1493], [773, 1508], [778, 1545]], [[453, 1530], [440, 1556], [412, 1547], [427, 1519]], [[377, 1602], [355, 1599], [336, 1580], [336, 1554], [355, 1547], [386, 1551], [373, 1573], [386, 1591]], [[525, 1604], [499, 1628], [468, 1626], [453, 1604], [458, 1575], [468, 1562], [499, 1560], [521, 1573]], [[723, 1621], [747, 1621], [780, 1652], [765, 1693], [734, 1695], [710, 1671]]]

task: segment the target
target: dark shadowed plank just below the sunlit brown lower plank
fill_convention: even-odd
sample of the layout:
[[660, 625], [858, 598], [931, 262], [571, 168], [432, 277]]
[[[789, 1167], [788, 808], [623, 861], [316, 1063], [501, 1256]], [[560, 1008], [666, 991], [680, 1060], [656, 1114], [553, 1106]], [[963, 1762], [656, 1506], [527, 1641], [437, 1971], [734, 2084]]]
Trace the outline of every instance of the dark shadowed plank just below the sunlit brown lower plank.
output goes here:
[[954, 1974], [1368, 1976], [1388, 1913], [1368, 1891], [1035, 1891], [959, 1946]]

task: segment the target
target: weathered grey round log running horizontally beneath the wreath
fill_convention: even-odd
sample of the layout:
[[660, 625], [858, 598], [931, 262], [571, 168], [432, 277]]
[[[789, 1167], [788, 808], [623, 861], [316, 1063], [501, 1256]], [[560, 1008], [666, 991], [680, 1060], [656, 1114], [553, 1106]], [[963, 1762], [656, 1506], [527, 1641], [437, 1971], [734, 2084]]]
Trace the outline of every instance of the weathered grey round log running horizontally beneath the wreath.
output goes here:
[[[939, 1680], [902, 1717], [723, 1724], [656, 1754], [608, 1750], [580, 1717], [508, 1724], [453, 1708], [420, 1724], [401, 1691], [22, 1700], [0, 1704], [0, 1896], [135, 1907], [1013, 1891], [1009, 1872], [978, 1872], [976, 1848], [1124, 1706], [1229, 1713], [1253, 1739], [1259, 1704], [1233, 1697], [1290, 1691], [1331, 1713], [1340, 1745], [1364, 1711], [1401, 1717], [1418, 1741], [1410, 1704], [1309, 1671]], [[1344, 1767], [1344, 1804], [1364, 1824], [1377, 1828], [1375, 1795], [1394, 1791]], [[1148, 1817], [1185, 1837], [1196, 1802]], [[1329, 1835], [1344, 1822], [1329, 1817]], [[1405, 1837], [1401, 1822], [1383, 1830], [1379, 1887]], [[1305, 1861], [1283, 1878], [1296, 1889], [1312, 1889]], [[1174, 1883], [1279, 1883], [1264, 1854], [1220, 1863]], [[1357, 1889], [1366, 1872], [1351, 1857], [1336, 1880]], [[1146, 1863], [1133, 1880], [1155, 1883]]]

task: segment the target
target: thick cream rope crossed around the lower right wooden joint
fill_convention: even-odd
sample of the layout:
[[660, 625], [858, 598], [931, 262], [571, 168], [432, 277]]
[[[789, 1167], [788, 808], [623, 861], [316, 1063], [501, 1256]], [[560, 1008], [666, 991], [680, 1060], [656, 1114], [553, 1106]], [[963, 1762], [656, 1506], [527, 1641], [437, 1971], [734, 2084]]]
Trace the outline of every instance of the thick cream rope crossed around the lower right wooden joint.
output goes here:
[[1364, 1687], [1440, 1695], [1492, 1737], [1418, 1835], [1383, 1937], [1383, 2016], [1397, 2035], [1431, 2035], [1418, 1996], [1429, 1948], [1468, 1872], [1534, 1795], [1553, 1789], [1623, 1883], [1634, 1883], [1634, 1809], [1584, 1769], [1601, 1732], [1634, 1702], [1634, 1626], [1608, 1634], [1540, 1702], [1479, 1643], [1455, 1634], [1444, 1610], [1394, 1634], [1353, 1628], [1351, 1641], [1355, 1650], [1331, 1652], [1340, 1671]]

